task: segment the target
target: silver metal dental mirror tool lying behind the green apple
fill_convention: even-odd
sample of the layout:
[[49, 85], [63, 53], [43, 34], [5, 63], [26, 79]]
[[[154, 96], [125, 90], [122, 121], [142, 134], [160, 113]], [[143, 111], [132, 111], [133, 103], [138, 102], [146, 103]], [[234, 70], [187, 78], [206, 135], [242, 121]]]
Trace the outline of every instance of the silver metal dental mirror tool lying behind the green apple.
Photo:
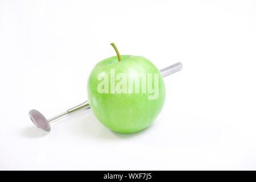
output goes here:
[[[170, 67], [166, 67], [163, 69], [160, 69], [159, 72], [161, 73], [162, 77], [166, 77], [168, 75], [171, 75], [172, 73], [175, 73], [177, 71], [180, 71], [182, 69], [182, 64], [176, 63], [171, 65]], [[43, 114], [39, 113], [39, 111], [32, 109], [29, 111], [30, 119], [31, 121], [42, 131], [49, 133], [51, 131], [51, 126], [49, 123], [56, 121], [56, 119], [59, 119], [61, 117], [64, 117], [65, 115], [76, 113], [77, 111], [90, 109], [90, 105], [88, 101], [83, 102], [80, 105], [77, 105], [75, 107], [72, 107], [71, 109], [68, 109], [62, 114], [56, 115], [55, 117], [52, 117], [51, 119], [46, 119]]]

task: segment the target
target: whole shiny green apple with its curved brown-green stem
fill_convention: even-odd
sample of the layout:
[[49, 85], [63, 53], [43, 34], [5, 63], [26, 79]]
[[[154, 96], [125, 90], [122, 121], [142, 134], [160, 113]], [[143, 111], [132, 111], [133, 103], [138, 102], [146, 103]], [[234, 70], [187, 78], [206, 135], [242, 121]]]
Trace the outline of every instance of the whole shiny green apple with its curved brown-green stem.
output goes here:
[[158, 68], [142, 56], [119, 55], [100, 61], [88, 80], [88, 100], [97, 119], [118, 133], [150, 126], [166, 96]]

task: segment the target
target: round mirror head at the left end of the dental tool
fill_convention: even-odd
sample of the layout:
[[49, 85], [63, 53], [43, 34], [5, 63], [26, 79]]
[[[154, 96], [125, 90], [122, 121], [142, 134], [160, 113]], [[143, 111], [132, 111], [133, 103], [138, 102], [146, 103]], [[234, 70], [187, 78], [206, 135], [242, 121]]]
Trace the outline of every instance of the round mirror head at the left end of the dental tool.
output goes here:
[[37, 126], [39, 129], [44, 132], [49, 133], [51, 131], [51, 127], [47, 119], [43, 116], [43, 114], [39, 113], [39, 111], [32, 109], [29, 112], [31, 121]]

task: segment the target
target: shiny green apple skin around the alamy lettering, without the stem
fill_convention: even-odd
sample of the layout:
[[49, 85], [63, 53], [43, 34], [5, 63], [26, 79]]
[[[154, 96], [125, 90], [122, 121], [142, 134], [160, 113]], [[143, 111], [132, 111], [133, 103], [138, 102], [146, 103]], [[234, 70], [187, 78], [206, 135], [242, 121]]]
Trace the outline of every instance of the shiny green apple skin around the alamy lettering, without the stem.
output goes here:
[[[88, 80], [88, 101], [97, 119], [110, 130], [118, 133], [135, 133], [150, 126], [163, 108], [166, 89], [163, 77], [158, 68], [142, 56], [121, 55], [109, 57], [100, 61], [93, 68]], [[99, 93], [97, 90], [101, 80], [97, 77], [106, 74], [110, 78], [110, 69], [115, 69], [115, 75], [124, 73], [153, 74], [152, 85], [154, 88], [154, 73], [159, 73], [159, 96], [149, 100], [146, 93]], [[110, 80], [110, 79], [109, 79]], [[110, 81], [109, 81], [110, 82]], [[115, 81], [115, 85], [119, 81]], [[140, 82], [140, 86], [142, 86]], [[110, 84], [109, 84], [110, 90]], [[141, 90], [141, 88], [140, 88]]]

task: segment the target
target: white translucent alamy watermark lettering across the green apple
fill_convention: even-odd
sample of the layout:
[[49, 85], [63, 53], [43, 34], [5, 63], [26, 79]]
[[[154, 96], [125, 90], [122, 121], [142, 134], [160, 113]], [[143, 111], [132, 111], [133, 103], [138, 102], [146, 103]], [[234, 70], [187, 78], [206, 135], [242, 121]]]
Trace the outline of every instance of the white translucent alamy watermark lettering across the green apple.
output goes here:
[[147, 93], [148, 100], [156, 100], [159, 96], [159, 73], [138, 75], [137, 72], [131, 72], [125, 75], [115, 74], [115, 69], [110, 69], [110, 78], [106, 73], [101, 73], [97, 79], [101, 81], [97, 86], [98, 93]]

